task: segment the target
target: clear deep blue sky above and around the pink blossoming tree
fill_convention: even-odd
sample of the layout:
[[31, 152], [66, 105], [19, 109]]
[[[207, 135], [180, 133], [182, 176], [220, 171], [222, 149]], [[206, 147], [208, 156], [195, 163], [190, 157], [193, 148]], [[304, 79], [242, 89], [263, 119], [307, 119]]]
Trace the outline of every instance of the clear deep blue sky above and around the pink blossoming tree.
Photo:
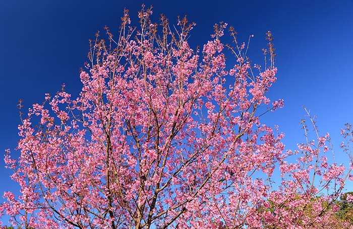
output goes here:
[[[124, 8], [133, 23], [141, 1], [27, 1], [0, 2], [0, 196], [5, 190], [18, 190], [4, 168], [6, 148], [14, 148], [20, 123], [16, 105], [25, 108], [42, 102], [45, 93], [55, 94], [61, 85], [78, 95], [79, 70], [87, 60], [88, 39], [107, 25], [117, 31]], [[250, 57], [262, 64], [261, 48], [265, 33], [273, 32], [278, 81], [270, 98], [284, 99], [283, 109], [267, 113], [267, 124], [277, 124], [286, 136], [284, 143], [294, 148], [304, 141], [299, 121], [305, 105], [318, 116], [322, 134], [330, 132], [340, 152], [340, 128], [353, 123], [353, 1], [145, 1], [153, 5], [158, 19], [165, 14], [171, 24], [187, 15], [197, 23], [191, 44], [202, 45], [210, 38], [213, 25], [227, 22], [239, 32], [241, 41], [254, 34]], [[16, 153], [15, 153], [16, 154]], [[350, 187], [353, 185], [349, 184]], [[351, 188], [353, 189], [353, 188]], [[2, 202], [0, 198], [0, 202]]]

